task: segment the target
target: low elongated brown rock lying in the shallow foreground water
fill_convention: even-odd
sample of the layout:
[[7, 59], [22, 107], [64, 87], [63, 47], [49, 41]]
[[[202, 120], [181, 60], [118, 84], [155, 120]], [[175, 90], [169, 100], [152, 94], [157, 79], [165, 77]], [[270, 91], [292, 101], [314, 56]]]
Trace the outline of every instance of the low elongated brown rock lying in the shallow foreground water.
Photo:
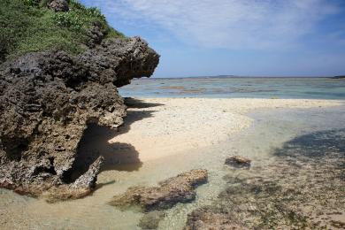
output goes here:
[[207, 181], [207, 170], [197, 169], [161, 181], [159, 187], [132, 187], [114, 196], [113, 206], [139, 206], [143, 211], [165, 210], [176, 203], [187, 203], [196, 198], [196, 186]]

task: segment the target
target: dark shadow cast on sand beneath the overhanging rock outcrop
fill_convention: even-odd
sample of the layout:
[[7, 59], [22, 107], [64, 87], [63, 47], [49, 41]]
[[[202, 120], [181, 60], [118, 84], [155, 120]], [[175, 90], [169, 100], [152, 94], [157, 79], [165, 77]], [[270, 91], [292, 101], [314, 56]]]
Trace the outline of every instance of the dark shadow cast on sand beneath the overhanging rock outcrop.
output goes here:
[[[161, 103], [144, 103], [142, 100], [126, 98], [125, 103], [128, 108], [150, 108], [161, 106]], [[73, 173], [70, 180], [74, 181], [83, 173], [88, 171], [88, 167], [96, 161], [99, 156], [104, 158], [101, 172], [118, 170], [133, 172], [142, 166], [139, 159], [139, 152], [133, 145], [123, 142], [109, 142], [119, 134], [129, 131], [131, 124], [135, 121], [152, 117], [154, 111], [127, 111], [127, 116], [123, 126], [119, 130], [96, 124], [88, 125], [80, 140], [77, 157], [73, 163]], [[97, 185], [100, 188], [104, 185]]]

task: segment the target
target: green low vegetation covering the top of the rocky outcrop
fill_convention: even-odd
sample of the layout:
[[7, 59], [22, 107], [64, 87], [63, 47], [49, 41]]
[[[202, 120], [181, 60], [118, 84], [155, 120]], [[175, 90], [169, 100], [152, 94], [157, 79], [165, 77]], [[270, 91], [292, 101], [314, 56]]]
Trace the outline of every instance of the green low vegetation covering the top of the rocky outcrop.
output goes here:
[[79, 54], [87, 48], [88, 33], [95, 23], [105, 38], [125, 37], [108, 25], [96, 7], [68, 2], [68, 12], [54, 12], [47, 7], [50, 0], [0, 1], [0, 62], [32, 51]]

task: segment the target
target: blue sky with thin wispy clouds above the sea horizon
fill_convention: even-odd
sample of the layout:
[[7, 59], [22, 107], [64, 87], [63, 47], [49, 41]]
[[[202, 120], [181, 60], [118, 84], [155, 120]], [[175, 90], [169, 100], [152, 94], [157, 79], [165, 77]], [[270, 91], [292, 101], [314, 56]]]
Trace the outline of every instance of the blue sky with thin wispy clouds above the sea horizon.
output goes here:
[[345, 0], [80, 0], [160, 55], [155, 77], [345, 74]]

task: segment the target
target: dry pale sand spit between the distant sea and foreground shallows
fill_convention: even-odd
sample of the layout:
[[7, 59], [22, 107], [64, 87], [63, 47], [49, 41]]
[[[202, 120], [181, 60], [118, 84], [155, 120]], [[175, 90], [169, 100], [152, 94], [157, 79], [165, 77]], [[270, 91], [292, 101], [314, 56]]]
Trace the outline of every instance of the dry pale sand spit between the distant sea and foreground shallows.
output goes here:
[[117, 154], [126, 157], [136, 151], [142, 162], [224, 141], [250, 126], [252, 119], [245, 115], [249, 111], [341, 104], [341, 101], [330, 100], [243, 98], [145, 98], [140, 101], [130, 102], [125, 125], [109, 142], [132, 145], [133, 148], [119, 148]]

